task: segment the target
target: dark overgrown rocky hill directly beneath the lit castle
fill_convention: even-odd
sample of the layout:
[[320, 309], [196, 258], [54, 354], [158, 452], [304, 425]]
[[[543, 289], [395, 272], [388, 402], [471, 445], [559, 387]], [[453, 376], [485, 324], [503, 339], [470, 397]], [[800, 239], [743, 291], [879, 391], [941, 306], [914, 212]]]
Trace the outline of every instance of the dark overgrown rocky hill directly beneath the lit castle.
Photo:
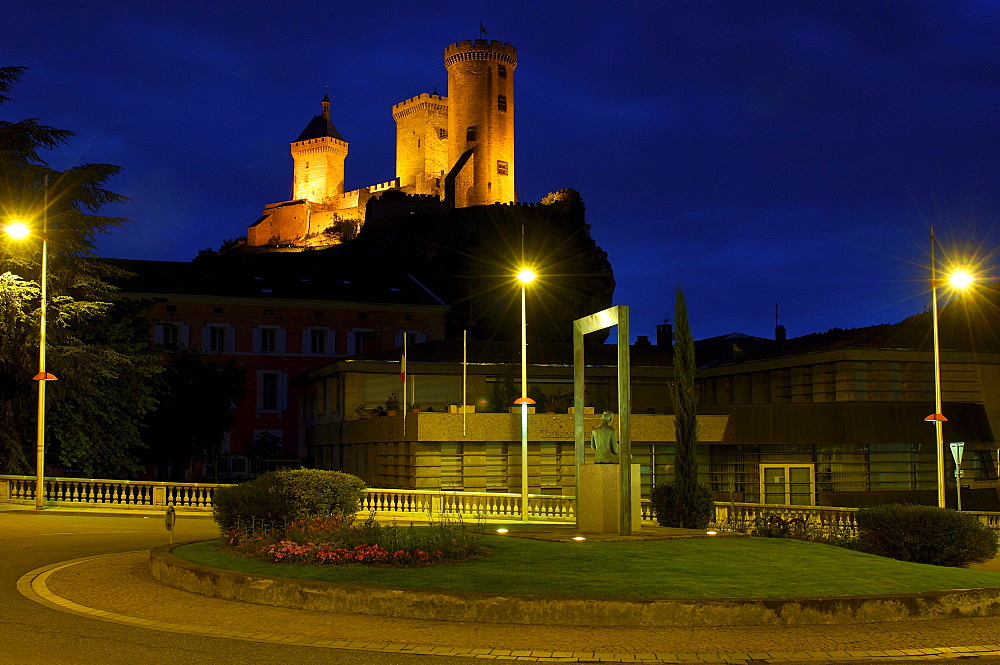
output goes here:
[[[415, 197], [413, 197], [415, 198]], [[524, 263], [538, 273], [528, 287], [529, 342], [569, 342], [573, 320], [611, 306], [614, 271], [590, 235], [579, 193], [560, 190], [538, 205], [489, 205], [442, 212], [387, 192], [368, 203], [365, 225], [345, 259], [372, 259], [419, 277], [451, 307], [447, 334], [520, 340]], [[523, 239], [522, 239], [523, 233]], [[602, 341], [607, 332], [593, 335]], [[597, 339], [601, 338], [601, 339]]]

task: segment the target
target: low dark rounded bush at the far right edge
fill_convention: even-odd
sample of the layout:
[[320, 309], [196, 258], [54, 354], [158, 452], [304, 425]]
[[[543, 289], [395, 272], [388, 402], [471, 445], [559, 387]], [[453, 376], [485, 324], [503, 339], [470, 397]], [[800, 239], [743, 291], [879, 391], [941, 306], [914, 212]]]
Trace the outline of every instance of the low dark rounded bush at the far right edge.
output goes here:
[[997, 554], [997, 536], [973, 515], [934, 506], [886, 505], [857, 514], [857, 549], [869, 554], [963, 567]]

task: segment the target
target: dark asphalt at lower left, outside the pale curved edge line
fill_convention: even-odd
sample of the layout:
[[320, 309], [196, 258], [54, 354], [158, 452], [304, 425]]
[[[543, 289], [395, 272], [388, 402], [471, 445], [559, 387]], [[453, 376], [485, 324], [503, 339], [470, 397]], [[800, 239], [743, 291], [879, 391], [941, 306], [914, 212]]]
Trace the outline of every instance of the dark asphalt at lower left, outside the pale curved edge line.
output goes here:
[[[178, 540], [212, 537], [205, 518], [178, 520]], [[46, 564], [168, 542], [160, 517], [0, 512], [0, 663], [3, 665], [194, 665], [308, 662], [331, 665], [468, 665], [467, 658], [315, 649], [167, 633], [95, 621], [28, 600], [16, 584]], [[280, 628], [280, 627], [277, 627]]]

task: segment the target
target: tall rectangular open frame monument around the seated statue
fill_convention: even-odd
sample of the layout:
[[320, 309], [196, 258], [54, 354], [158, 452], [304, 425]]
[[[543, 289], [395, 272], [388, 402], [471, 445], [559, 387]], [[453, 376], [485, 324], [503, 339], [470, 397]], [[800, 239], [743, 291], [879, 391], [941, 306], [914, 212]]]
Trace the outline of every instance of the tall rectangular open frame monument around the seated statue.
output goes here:
[[618, 326], [618, 440], [619, 489], [621, 491], [620, 533], [632, 535], [632, 364], [629, 357], [628, 305], [616, 305], [573, 321], [573, 434], [576, 451], [576, 497], [580, 498], [580, 465], [584, 460], [583, 336]]

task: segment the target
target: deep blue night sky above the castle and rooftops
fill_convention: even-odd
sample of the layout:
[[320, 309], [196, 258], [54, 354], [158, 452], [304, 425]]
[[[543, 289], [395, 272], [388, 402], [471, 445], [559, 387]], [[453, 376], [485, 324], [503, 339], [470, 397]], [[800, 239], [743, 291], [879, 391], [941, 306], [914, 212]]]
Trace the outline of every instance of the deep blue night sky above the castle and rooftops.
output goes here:
[[[286, 200], [324, 93], [348, 189], [394, 175], [391, 106], [444, 93], [444, 47], [517, 46], [520, 198], [573, 187], [652, 334], [896, 322], [929, 305], [928, 227], [997, 276], [1000, 3], [8, 3], [0, 117], [124, 167], [105, 256], [189, 260]], [[329, 87], [327, 87], [329, 86]]]

